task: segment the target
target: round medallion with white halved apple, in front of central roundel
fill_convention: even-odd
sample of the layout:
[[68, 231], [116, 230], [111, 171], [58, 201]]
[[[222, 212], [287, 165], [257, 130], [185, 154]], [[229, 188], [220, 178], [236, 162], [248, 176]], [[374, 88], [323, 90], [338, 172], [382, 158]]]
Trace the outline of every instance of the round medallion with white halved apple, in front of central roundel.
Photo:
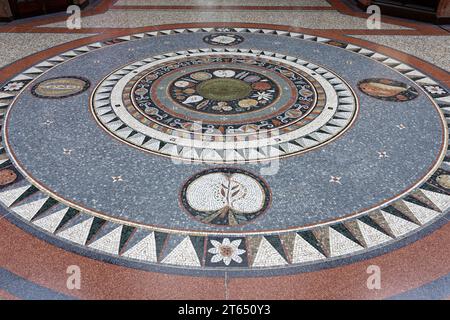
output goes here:
[[236, 226], [259, 217], [270, 203], [269, 186], [236, 168], [215, 168], [191, 177], [181, 191], [183, 207], [208, 224]]

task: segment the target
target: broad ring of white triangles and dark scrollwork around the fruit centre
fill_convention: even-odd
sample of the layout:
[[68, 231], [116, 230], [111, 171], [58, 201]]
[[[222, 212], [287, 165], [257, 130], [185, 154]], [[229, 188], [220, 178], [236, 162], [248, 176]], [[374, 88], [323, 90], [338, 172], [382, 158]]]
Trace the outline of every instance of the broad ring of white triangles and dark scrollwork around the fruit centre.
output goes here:
[[[96, 119], [119, 140], [140, 149], [171, 158], [214, 163], [253, 162], [306, 152], [337, 138], [355, 120], [359, 110], [356, 96], [331, 71], [274, 52], [266, 55], [249, 49], [218, 50], [169, 52], [113, 72], [94, 90], [92, 111]], [[209, 68], [220, 62], [223, 70], [238, 65], [266, 72], [277, 83], [283, 83], [279, 87], [289, 94], [280, 94], [272, 106], [253, 112], [198, 113], [175, 104], [167, 92], [169, 84], [179, 77], [178, 71], [188, 74], [192, 68], [204, 70], [201, 63], [185, 65], [192, 61], [209, 61]], [[267, 64], [274, 68], [261, 67]], [[161, 69], [163, 76], [155, 74]], [[141, 84], [149, 81], [151, 84], [143, 88]], [[312, 97], [305, 97], [309, 95], [306, 90], [314, 92], [313, 101]], [[258, 143], [252, 142], [255, 133], [263, 138]], [[210, 143], [206, 146], [204, 141]], [[224, 141], [232, 147], [226, 152]]]

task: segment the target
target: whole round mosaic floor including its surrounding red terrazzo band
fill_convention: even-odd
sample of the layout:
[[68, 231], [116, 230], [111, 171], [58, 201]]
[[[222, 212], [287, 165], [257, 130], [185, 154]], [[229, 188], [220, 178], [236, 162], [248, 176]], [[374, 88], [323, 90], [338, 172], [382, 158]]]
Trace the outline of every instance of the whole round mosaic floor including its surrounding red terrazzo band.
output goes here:
[[3, 69], [0, 297], [450, 296], [448, 72], [316, 29], [102, 30]]

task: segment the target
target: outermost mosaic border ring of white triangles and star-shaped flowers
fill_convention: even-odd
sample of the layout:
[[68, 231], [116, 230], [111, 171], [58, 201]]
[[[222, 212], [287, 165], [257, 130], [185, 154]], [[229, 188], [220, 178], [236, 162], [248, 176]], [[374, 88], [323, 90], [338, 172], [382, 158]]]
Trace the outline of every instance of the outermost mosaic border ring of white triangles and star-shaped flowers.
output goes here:
[[[224, 32], [224, 29], [191, 28], [162, 30], [136, 34], [98, 42], [70, 50], [47, 59], [25, 70], [6, 83], [0, 91], [0, 110], [3, 118], [14, 98], [28, 84], [45, 71], [74, 57], [102, 47], [155, 36], [184, 32]], [[295, 32], [229, 28], [227, 31], [261, 33], [314, 41], [333, 45], [379, 61], [402, 73], [430, 95], [439, 105], [446, 119], [450, 119], [448, 91], [427, 75], [413, 67], [385, 55], [355, 45]], [[132, 66], [136, 69], [138, 66]], [[66, 242], [78, 244], [95, 252], [146, 264], [190, 268], [216, 268], [221, 270], [259, 270], [328, 261], [341, 256], [356, 255], [373, 248], [393, 243], [434, 223], [448, 212], [450, 189], [448, 177], [450, 158], [423, 184], [402, 198], [358, 217], [321, 226], [270, 234], [207, 234], [167, 232], [161, 229], [142, 228], [119, 221], [109, 221], [70, 207], [47, 192], [41, 192], [23, 177], [6, 153], [6, 141], [0, 150], [0, 201], [13, 217], [20, 218], [37, 230], [51, 234]], [[11, 174], [12, 171], [14, 174]], [[14, 179], [13, 179], [14, 177]], [[272, 272], [272, 270], [271, 270]]]

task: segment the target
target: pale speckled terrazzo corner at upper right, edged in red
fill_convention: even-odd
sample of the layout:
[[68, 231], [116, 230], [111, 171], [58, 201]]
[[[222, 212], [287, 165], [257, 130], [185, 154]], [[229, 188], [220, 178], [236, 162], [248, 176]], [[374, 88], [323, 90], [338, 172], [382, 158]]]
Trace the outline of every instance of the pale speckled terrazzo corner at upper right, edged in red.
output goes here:
[[450, 35], [448, 36], [353, 36], [391, 47], [450, 71]]

